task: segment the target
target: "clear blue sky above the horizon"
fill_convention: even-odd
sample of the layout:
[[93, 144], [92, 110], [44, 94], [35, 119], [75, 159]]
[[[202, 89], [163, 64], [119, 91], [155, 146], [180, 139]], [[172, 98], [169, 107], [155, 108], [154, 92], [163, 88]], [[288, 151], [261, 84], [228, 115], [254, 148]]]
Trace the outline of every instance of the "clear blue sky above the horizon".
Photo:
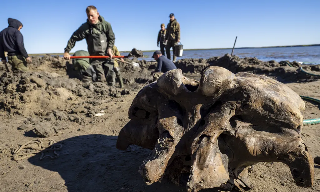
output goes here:
[[[160, 24], [173, 12], [184, 49], [320, 44], [320, 0], [270, 1], [2, 1], [0, 28], [20, 20], [28, 53], [64, 52], [72, 33], [94, 5], [111, 23], [120, 51], [156, 50]], [[71, 50], [87, 49], [85, 40]]]

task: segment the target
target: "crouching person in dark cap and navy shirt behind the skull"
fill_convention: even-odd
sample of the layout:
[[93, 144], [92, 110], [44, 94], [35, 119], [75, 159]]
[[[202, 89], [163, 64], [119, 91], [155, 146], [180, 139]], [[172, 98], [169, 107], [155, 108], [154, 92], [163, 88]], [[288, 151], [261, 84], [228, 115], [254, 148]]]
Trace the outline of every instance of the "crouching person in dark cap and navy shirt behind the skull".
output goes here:
[[152, 73], [154, 81], [158, 80], [165, 72], [177, 68], [170, 59], [162, 55], [161, 51], [155, 51], [152, 58], [158, 62], [156, 70]]

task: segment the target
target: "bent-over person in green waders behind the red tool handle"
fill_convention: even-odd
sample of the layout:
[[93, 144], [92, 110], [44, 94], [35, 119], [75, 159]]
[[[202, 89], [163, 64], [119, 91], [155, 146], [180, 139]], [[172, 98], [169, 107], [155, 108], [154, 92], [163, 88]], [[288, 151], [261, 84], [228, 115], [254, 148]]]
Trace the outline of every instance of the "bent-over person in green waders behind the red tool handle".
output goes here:
[[[89, 52], [84, 50], [76, 51], [73, 56], [89, 56]], [[74, 65], [75, 70], [77, 70], [80, 74], [81, 80], [83, 82], [95, 82], [97, 81], [96, 71], [90, 65], [89, 58], [80, 58], [80, 59], [72, 59], [72, 64]]]

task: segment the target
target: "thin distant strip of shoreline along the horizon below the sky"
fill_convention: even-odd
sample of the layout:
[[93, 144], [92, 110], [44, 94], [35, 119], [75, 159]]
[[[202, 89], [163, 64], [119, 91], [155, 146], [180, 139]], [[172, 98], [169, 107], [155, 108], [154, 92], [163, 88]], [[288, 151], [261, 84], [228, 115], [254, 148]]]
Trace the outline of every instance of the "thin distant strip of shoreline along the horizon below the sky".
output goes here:
[[[261, 48], [280, 48], [280, 47], [311, 47], [311, 46], [320, 46], [320, 44], [309, 44], [309, 45], [284, 45], [284, 46], [269, 46], [269, 47], [236, 47], [235, 49], [261, 49]], [[198, 51], [198, 50], [224, 50], [232, 48], [208, 48], [208, 49], [183, 49], [183, 51]], [[147, 50], [143, 52], [154, 52], [156, 50]], [[121, 53], [128, 53], [131, 51], [120, 51]], [[42, 56], [42, 55], [63, 55], [63, 53], [33, 53], [29, 56]], [[73, 53], [70, 53], [72, 55]]]

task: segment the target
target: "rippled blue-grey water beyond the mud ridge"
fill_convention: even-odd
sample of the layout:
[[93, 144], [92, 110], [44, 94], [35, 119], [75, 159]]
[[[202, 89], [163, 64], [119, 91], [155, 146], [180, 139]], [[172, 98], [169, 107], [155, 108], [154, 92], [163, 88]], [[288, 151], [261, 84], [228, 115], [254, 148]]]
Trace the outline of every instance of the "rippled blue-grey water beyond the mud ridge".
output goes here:
[[[204, 58], [208, 59], [215, 56], [223, 56], [226, 53], [231, 54], [232, 49], [216, 49], [216, 50], [195, 50], [195, 51], [183, 51], [183, 56], [178, 59], [184, 58]], [[127, 53], [123, 53], [126, 55]], [[152, 60], [151, 56], [153, 52], [143, 52], [148, 58], [145, 60]], [[320, 46], [306, 46], [306, 47], [272, 47], [272, 48], [245, 48], [235, 49], [234, 55], [240, 58], [244, 57], [256, 57], [259, 60], [269, 61], [276, 60], [277, 62], [282, 60], [305, 62], [305, 64], [320, 64]], [[172, 51], [171, 51], [172, 57]], [[142, 60], [142, 59], [139, 59]]]

